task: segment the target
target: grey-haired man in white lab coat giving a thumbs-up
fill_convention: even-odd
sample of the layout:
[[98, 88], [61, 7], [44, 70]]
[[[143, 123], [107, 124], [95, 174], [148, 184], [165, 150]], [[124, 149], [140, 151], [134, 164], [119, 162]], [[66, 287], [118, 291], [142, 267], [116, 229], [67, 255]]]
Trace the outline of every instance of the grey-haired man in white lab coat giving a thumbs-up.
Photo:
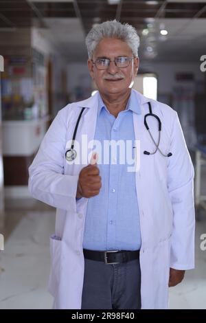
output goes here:
[[57, 208], [54, 308], [165, 309], [194, 267], [192, 161], [176, 112], [132, 89], [135, 28], [106, 21], [86, 43], [99, 91], [59, 111], [30, 166], [33, 196]]

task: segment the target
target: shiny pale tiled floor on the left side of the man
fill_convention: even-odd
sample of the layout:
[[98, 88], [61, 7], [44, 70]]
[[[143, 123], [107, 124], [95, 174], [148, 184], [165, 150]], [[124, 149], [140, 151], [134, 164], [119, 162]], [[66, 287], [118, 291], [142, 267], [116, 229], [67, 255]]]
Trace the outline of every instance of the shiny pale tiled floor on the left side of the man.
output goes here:
[[0, 309], [52, 308], [47, 280], [55, 210], [34, 200], [10, 201], [6, 219], [10, 236], [0, 254]]

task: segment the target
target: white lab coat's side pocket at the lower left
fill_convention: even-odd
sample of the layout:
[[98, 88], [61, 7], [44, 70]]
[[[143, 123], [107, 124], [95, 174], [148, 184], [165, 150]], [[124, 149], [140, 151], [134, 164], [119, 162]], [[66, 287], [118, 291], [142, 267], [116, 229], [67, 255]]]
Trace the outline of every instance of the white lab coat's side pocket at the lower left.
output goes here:
[[51, 269], [49, 274], [48, 291], [52, 296], [56, 296], [58, 286], [60, 284], [60, 268], [61, 268], [61, 254], [62, 254], [62, 241], [59, 237], [53, 235], [50, 238], [50, 256], [51, 256]]

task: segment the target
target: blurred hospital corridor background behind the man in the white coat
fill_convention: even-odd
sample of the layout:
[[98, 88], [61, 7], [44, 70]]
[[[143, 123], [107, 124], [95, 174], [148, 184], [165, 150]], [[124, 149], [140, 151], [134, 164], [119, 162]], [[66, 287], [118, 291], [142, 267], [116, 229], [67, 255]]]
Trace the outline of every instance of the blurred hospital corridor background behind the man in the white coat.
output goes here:
[[95, 91], [84, 38], [111, 19], [139, 34], [134, 88], [179, 113], [196, 170], [196, 269], [170, 308], [206, 309], [206, 0], [0, 0], [0, 309], [52, 307], [55, 210], [30, 197], [28, 167], [58, 110]]

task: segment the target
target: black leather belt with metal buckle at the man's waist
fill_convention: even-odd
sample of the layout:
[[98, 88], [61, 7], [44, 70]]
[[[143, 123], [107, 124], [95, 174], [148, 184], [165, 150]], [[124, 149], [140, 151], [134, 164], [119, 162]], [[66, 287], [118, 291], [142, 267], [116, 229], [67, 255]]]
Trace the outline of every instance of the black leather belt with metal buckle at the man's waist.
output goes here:
[[139, 250], [108, 250], [106, 252], [98, 252], [95, 250], [83, 249], [84, 258], [89, 260], [104, 261], [108, 264], [127, 263], [130, 260], [139, 258]]

